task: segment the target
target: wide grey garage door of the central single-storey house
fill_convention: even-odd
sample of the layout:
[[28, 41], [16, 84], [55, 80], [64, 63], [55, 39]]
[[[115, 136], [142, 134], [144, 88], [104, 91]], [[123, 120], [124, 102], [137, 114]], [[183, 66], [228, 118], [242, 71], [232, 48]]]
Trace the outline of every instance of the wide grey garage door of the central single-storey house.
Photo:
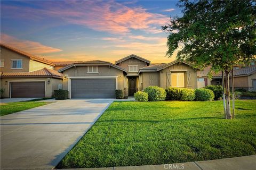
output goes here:
[[116, 79], [71, 79], [71, 98], [115, 98]]

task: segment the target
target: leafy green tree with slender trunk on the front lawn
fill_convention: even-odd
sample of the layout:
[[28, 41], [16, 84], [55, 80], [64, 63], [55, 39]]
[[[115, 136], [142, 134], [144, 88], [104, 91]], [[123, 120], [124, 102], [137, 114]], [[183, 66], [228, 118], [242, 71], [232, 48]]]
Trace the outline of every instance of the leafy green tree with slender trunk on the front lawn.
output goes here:
[[[230, 114], [229, 74], [234, 65], [249, 62], [256, 54], [255, 1], [181, 0], [183, 16], [171, 18], [166, 55], [178, 49], [177, 59], [203, 69], [226, 74], [226, 117]], [[178, 48], [181, 46], [182, 48]]]

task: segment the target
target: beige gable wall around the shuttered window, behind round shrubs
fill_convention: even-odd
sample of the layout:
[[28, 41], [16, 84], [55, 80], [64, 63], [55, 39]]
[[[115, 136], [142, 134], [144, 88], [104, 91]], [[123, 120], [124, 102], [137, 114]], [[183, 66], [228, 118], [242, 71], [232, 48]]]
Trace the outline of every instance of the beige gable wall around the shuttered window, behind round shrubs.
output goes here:
[[[159, 86], [162, 88], [166, 88], [171, 86], [171, 72], [184, 72], [185, 73], [185, 88], [191, 88], [191, 89], [196, 89], [197, 88], [197, 73], [196, 70], [193, 69], [193, 67], [187, 65], [187, 64], [173, 64], [169, 67], [166, 67], [164, 70], [159, 71], [159, 78], [160, 78], [160, 83]], [[170, 83], [167, 80], [167, 73], [169, 74], [169, 80]], [[188, 73], [190, 73], [190, 81], [189, 85], [190, 87], [187, 86], [188, 84]]]

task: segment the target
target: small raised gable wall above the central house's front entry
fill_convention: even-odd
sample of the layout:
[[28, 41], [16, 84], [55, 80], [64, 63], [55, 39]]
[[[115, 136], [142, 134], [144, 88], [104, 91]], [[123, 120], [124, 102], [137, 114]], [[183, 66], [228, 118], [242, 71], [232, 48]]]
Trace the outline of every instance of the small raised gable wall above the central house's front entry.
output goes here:
[[[139, 69], [141, 69], [142, 67], [147, 66], [147, 63], [132, 57], [132, 58], [129, 58], [128, 60], [125, 60], [119, 63], [118, 65], [123, 67], [127, 71], [129, 71], [129, 65], [138, 65], [138, 71], [139, 71]], [[127, 74], [137, 74], [137, 72], [128, 72]]]

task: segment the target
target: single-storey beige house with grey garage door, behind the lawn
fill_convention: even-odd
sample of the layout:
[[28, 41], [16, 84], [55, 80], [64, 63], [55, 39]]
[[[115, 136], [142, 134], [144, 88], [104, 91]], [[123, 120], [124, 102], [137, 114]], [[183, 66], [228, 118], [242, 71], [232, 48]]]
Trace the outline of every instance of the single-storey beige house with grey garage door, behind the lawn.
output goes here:
[[125, 96], [148, 86], [197, 88], [196, 69], [186, 62], [150, 64], [137, 55], [115, 62], [87, 61], [67, 65], [58, 70], [65, 75], [63, 89], [69, 98], [115, 98], [115, 90]]

